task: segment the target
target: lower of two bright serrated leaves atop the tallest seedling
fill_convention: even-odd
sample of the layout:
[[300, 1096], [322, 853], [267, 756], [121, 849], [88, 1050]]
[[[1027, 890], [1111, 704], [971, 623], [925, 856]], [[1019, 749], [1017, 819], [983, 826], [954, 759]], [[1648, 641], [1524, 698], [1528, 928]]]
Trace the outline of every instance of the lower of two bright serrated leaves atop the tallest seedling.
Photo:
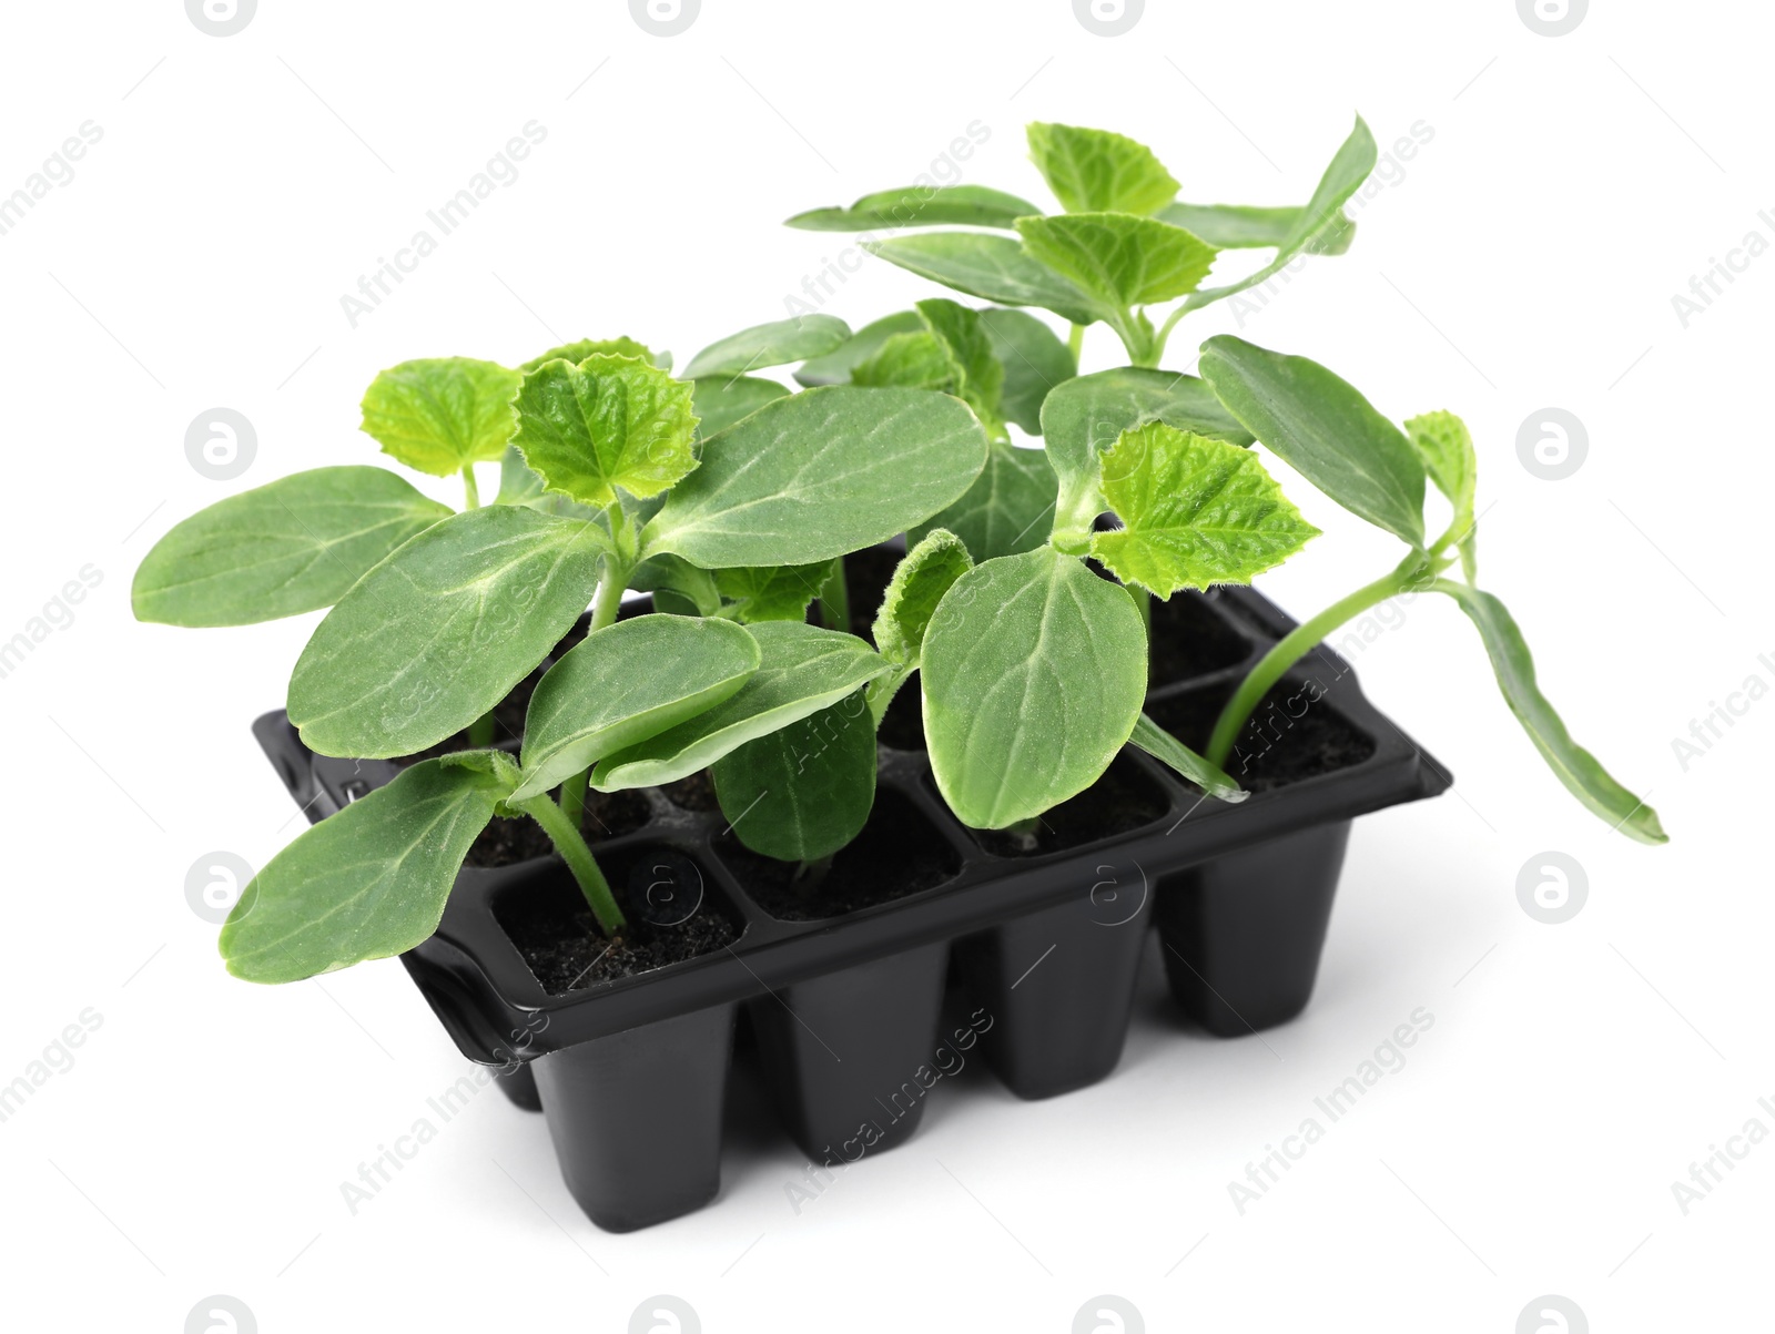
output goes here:
[[1017, 232], [1035, 259], [1118, 310], [1193, 293], [1218, 254], [1182, 227], [1127, 213], [1021, 218]]

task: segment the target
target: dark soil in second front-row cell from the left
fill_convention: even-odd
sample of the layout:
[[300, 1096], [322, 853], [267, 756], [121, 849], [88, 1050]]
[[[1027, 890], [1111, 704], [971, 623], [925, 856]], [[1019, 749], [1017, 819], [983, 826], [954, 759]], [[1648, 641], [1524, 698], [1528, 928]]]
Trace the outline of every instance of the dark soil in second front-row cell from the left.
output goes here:
[[893, 903], [941, 885], [962, 869], [943, 836], [893, 788], [875, 793], [875, 809], [825, 875], [797, 878], [795, 862], [763, 857], [731, 834], [715, 841], [746, 892], [777, 921], [811, 922]]

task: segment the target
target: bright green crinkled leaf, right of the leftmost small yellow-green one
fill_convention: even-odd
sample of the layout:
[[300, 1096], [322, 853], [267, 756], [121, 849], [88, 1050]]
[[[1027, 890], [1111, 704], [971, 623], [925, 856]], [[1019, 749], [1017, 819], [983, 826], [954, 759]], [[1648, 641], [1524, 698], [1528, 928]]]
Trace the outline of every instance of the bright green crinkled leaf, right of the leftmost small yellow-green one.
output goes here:
[[609, 506], [659, 495], [696, 467], [692, 388], [630, 357], [547, 362], [518, 388], [524, 461], [559, 495]]

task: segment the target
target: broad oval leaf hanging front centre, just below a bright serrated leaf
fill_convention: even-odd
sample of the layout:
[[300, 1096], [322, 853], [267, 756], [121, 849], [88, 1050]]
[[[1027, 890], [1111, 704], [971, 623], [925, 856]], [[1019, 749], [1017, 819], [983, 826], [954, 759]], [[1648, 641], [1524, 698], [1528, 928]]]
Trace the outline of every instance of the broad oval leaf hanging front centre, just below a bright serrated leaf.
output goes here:
[[921, 681], [937, 788], [962, 823], [1003, 828], [1115, 759], [1147, 694], [1147, 630], [1127, 589], [1040, 546], [950, 585]]

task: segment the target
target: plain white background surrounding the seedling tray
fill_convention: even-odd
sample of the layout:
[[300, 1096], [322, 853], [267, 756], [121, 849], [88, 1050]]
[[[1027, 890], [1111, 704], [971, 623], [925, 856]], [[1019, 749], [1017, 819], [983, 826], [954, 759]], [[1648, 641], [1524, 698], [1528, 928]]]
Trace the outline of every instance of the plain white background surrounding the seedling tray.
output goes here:
[[[1590, 11], [1544, 37], [1512, 0], [1154, 0], [1100, 37], [1065, 0], [706, 0], [657, 37], [614, 0], [263, 0], [218, 39], [178, 0], [9, 7], [0, 193], [83, 121], [103, 138], [0, 236], [0, 639], [82, 566], [103, 584], [0, 679], [0, 1082], [101, 1016], [0, 1125], [7, 1325], [174, 1334], [225, 1293], [266, 1334], [623, 1330], [664, 1291], [712, 1334], [1058, 1334], [1097, 1293], [1150, 1330], [1509, 1334], [1541, 1293], [1594, 1330], [1761, 1327], [1775, 1144], [1688, 1215], [1670, 1185], [1748, 1119], [1775, 1130], [1775, 702], [1686, 770], [1672, 738], [1747, 678], [1775, 685], [1775, 259], [1688, 328], [1670, 298], [1752, 229], [1775, 239], [1771, 32], [1752, 4]], [[1358, 825], [1296, 1024], [1207, 1040], [1154, 956], [1111, 1080], [1019, 1103], [969, 1070], [916, 1141], [799, 1215], [801, 1158], [753, 1118], [714, 1206], [628, 1236], [579, 1215], [541, 1119], [488, 1091], [353, 1217], [339, 1183], [463, 1061], [394, 961], [284, 988], [224, 974], [185, 875], [213, 850], [259, 866], [296, 832], [247, 724], [316, 617], [140, 626], [149, 545], [225, 493], [376, 461], [357, 401], [398, 360], [630, 334], [682, 364], [781, 318], [847, 238], [777, 222], [907, 183], [974, 121], [990, 140], [964, 179], [1031, 199], [1022, 124], [1058, 119], [1152, 144], [1187, 199], [1287, 204], [1353, 110], [1383, 149], [1420, 121], [1434, 137], [1358, 209], [1349, 255], [1242, 326], [1193, 316], [1168, 364], [1237, 330], [1393, 417], [1463, 413], [1491, 506], [1480, 577], [1670, 846], [1571, 802], [1466, 623], [1420, 601], [1358, 667], [1459, 786]], [[351, 328], [359, 275], [532, 119], [548, 137], [517, 183]], [[872, 261], [824, 309], [861, 325], [928, 291]], [[1088, 367], [1116, 360], [1095, 330]], [[1518, 461], [1550, 404], [1589, 431], [1566, 481]], [[257, 429], [234, 483], [185, 458], [215, 406]], [[1392, 538], [1278, 472], [1326, 536], [1271, 596], [1305, 614], [1392, 566]], [[1516, 898], [1548, 850], [1589, 876], [1562, 926]], [[1228, 1181], [1418, 1006], [1436, 1022], [1409, 1063], [1241, 1215]]]

